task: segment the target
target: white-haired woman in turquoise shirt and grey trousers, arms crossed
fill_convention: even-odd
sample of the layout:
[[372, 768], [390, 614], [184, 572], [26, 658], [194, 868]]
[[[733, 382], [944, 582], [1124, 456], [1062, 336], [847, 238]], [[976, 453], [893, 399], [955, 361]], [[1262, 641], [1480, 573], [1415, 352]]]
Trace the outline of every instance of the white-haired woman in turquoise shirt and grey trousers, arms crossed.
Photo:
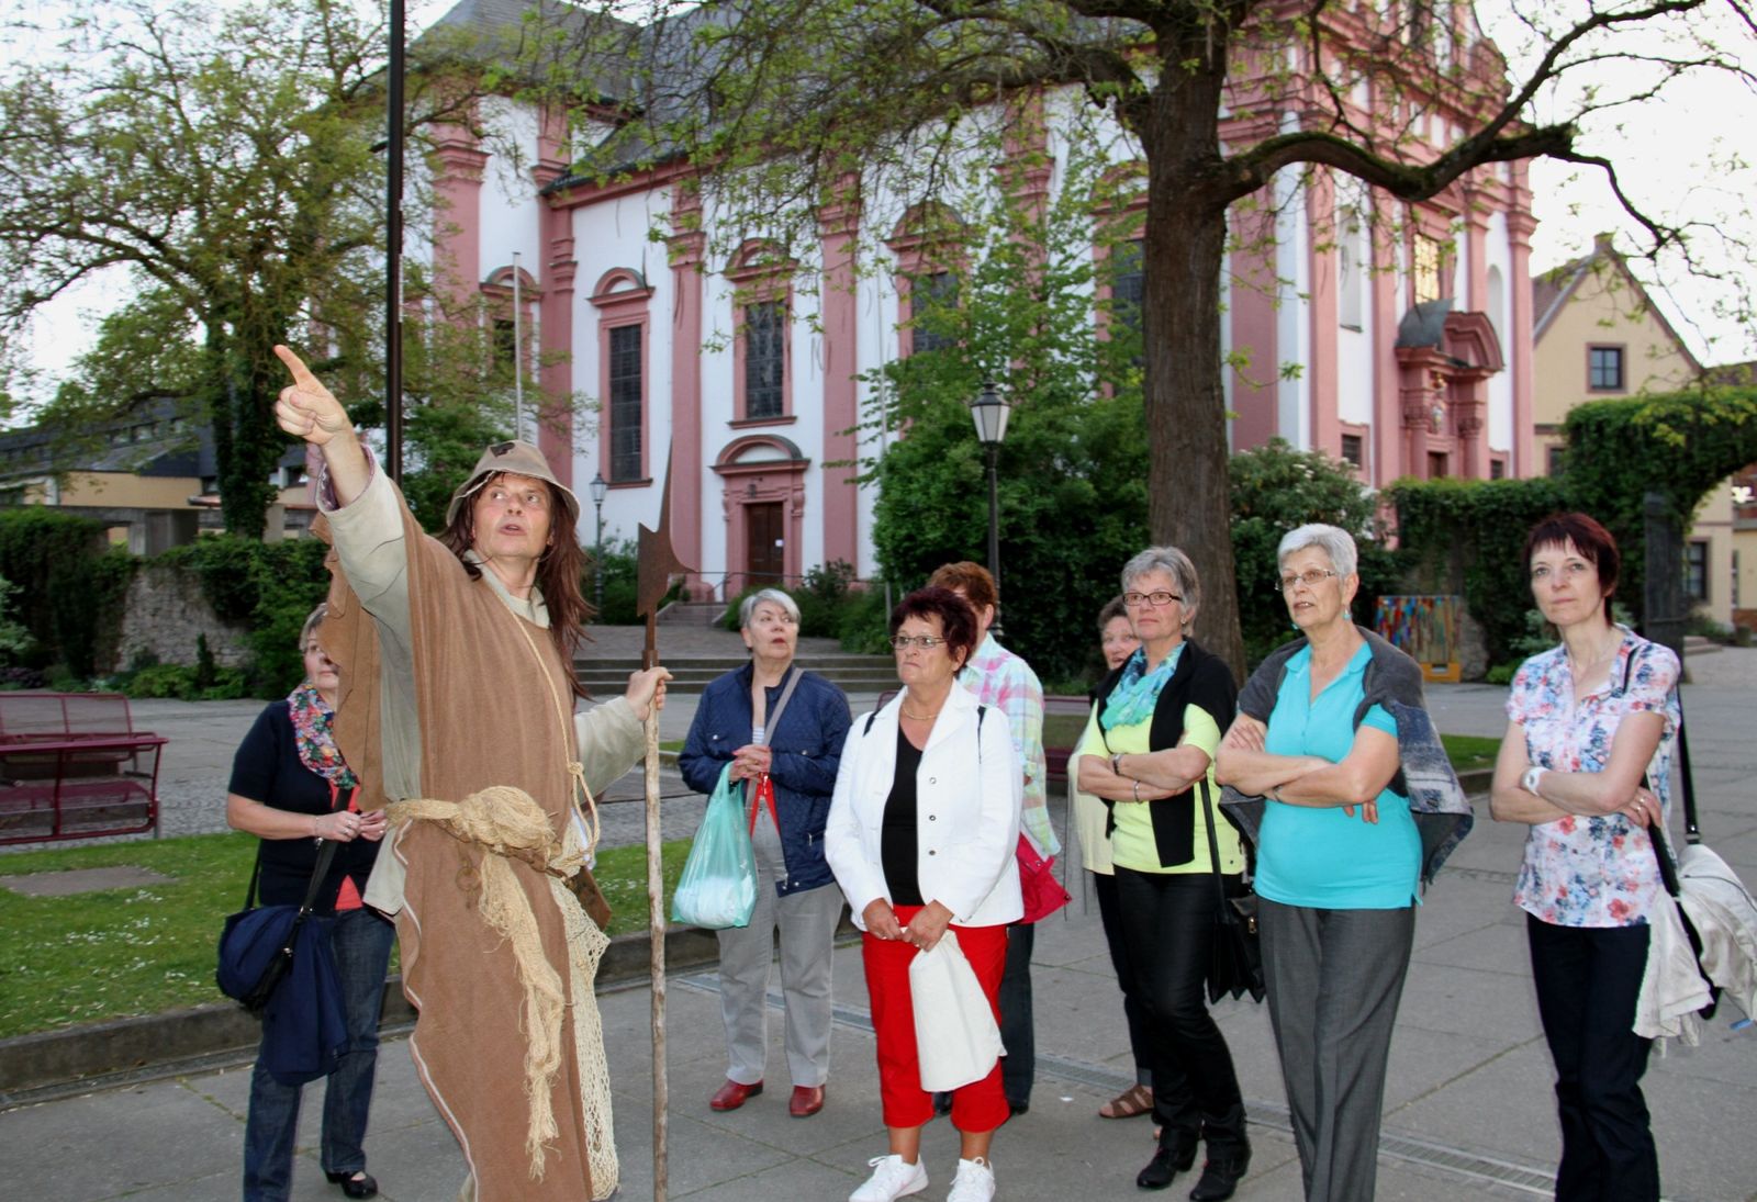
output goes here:
[[[1414, 664], [1353, 624], [1360, 578], [1346, 531], [1302, 525], [1281, 539], [1277, 559], [1304, 638], [1246, 685], [1218, 775], [1269, 798], [1258, 923], [1305, 1197], [1372, 1198], [1421, 875], [1409, 800], [1390, 789], [1397, 720], [1381, 698], [1385, 682], [1407, 680]], [[1272, 708], [1253, 712], [1253, 694]]]

